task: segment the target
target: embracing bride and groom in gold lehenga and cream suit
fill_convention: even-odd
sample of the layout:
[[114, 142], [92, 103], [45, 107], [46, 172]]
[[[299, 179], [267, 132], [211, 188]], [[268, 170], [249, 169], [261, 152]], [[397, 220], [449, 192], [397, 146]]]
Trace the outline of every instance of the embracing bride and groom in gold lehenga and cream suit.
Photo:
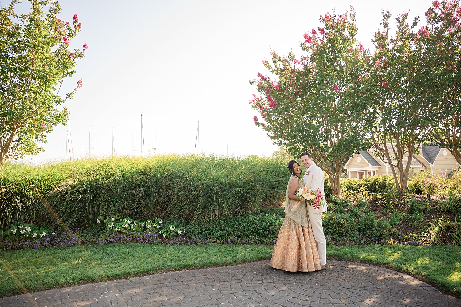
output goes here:
[[[288, 162], [291, 177], [285, 197], [285, 218], [278, 232], [270, 265], [290, 272], [313, 272], [326, 269], [326, 240], [322, 226], [322, 212], [326, 211], [325, 197], [318, 209], [296, 195], [305, 185], [325, 193], [325, 177], [313, 163], [310, 153], [301, 153], [306, 173], [301, 180], [301, 166], [295, 160]], [[325, 195], [325, 194], [322, 194]]]

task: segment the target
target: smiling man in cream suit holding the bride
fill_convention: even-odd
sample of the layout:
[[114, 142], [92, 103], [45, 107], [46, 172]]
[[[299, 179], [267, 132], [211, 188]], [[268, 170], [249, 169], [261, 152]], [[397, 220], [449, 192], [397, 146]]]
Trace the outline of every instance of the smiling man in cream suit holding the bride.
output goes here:
[[[319, 166], [315, 165], [312, 160], [310, 153], [301, 153], [302, 165], [306, 168], [306, 173], [302, 183], [307, 184], [309, 189], [320, 189], [325, 194], [324, 183], [325, 176]], [[326, 269], [326, 240], [323, 234], [322, 226], [322, 212], [326, 211], [326, 202], [323, 202], [322, 207], [314, 209], [312, 206], [307, 206], [307, 215], [312, 226], [312, 232], [314, 235], [315, 242], [317, 243], [317, 249], [319, 251], [320, 258], [320, 270]]]

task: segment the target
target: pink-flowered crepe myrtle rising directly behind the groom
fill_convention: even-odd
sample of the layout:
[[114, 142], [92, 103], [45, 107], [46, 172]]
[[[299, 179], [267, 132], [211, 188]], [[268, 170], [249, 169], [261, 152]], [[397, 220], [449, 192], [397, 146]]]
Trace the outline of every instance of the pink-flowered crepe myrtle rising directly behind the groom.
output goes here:
[[359, 122], [365, 105], [355, 90], [361, 86], [366, 50], [355, 39], [352, 7], [339, 16], [333, 10], [320, 22], [323, 28], [304, 35], [305, 55], [299, 59], [272, 50], [272, 60], [263, 65], [275, 78], [258, 73], [250, 81], [263, 95], [254, 95], [250, 104], [261, 116], [254, 116], [254, 123], [272, 142], [293, 156], [311, 153], [339, 196], [345, 161], [368, 146]]

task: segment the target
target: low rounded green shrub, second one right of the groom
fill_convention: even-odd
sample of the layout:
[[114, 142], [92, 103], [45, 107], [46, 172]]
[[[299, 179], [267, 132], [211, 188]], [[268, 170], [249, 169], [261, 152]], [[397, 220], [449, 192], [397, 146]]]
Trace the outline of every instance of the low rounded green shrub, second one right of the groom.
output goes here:
[[377, 219], [373, 213], [368, 213], [357, 221], [357, 230], [373, 240], [384, 240], [396, 236], [397, 230], [384, 219]]

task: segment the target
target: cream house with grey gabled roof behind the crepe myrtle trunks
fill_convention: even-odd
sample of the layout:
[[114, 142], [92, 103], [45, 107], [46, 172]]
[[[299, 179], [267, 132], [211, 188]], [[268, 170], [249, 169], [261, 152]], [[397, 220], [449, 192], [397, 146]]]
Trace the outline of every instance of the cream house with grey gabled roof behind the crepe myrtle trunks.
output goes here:
[[[390, 145], [388, 145], [390, 146]], [[392, 149], [389, 148], [392, 152]], [[434, 173], [449, 173], [458, 169], [460, 165], [447, 148], [434, 145], [421, 145], [419, 153], [411, 159], [411, 168], [415, 172], [429, 170]], [[376, 156], [376, 149], [370, 148], [355, 153], [344, 165], [348, 178], [366, 178], [375, 175], [392, 175], [390, 166]], [[403, 165], [408, 161], [408, 153], [402, 159]]]

